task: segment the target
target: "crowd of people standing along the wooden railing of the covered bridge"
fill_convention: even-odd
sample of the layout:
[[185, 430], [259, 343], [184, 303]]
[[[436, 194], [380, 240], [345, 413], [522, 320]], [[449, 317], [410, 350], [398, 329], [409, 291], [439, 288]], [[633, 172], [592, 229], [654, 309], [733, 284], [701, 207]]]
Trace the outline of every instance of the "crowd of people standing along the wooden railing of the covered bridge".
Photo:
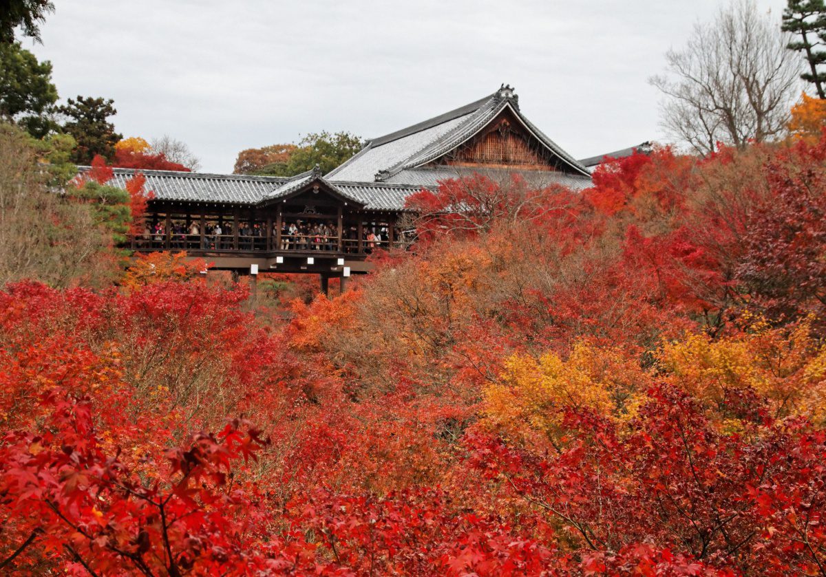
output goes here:
[[[172, 221], [169, 231], [170, 248], [192, 250], [226, 250], [235, 248], [235, 232], [231, 222], [207, 222], [201, 234], [201, 225], [192, 221], [187, 226], [182, 221]], [[344, 228], [339, 248], [339, 229], [333, 222], [304, 221], [283, 223], [280, 235], [277, 225], [273, 225], [270, 246], [268, 246], [266, 225], [241, 223], [238, 229], [239, 250], [323, 250], [354, 253], [358, 251], [358, 229]], [[277, 240], [280, 238], [280, 241]], [[363, 230], [362, 249], [370, 253], [374, 248], [387, 246], [387, 227], [367, 226]], [[155, 225], [147, 223], [138, 240], [139, 248], [164, 248], [166, 226], [163, 222]], [[278, 246], [277, 246], [278, 245]]]

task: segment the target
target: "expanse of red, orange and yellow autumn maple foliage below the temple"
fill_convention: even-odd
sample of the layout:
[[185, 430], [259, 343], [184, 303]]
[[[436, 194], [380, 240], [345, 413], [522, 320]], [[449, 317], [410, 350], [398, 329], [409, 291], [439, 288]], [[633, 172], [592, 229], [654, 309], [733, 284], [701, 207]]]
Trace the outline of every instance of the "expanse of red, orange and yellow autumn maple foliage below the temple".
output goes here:
[[800, 138], [444, 182], [278, 311], [183, 256], [10, 284], [0, 569], [826, 575], [824, 179]]

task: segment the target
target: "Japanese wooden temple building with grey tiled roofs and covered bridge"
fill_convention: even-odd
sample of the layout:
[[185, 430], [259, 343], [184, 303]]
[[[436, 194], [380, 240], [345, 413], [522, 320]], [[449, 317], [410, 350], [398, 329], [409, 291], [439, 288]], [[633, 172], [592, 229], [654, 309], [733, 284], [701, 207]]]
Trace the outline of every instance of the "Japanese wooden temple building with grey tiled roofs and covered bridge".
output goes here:
[[[81, 168], [86, 170], [88, 168]], [[295, 177], [139, 171], [149, 202], [139, 252], [186, 250], [218, 269], [312, 272], [326, 279], [368, 272], [368, 254], [402, 244], [406, 198], [439, 181], [520, 173], [534, 186], [591, 185], [589, 170], [520, 111], [513, 88], [369, 140], [330, 173]], [[115, 168], [114, 186], [134, 170]]]

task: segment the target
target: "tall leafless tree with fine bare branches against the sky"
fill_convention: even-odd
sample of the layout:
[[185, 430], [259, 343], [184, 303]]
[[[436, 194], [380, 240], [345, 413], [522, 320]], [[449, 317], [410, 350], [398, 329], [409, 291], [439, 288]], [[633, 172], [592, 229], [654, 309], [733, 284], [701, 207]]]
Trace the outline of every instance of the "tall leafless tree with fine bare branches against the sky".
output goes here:
[[718, 142], [743, 148], [781, 135], [801, 68], [789, 41], [753, 0], [732, 0], [714, 21], [696, 24], [685, 48], [667, 51], [667, 73], [650, 78], [666, 95], [662, 126], [700, 154]]

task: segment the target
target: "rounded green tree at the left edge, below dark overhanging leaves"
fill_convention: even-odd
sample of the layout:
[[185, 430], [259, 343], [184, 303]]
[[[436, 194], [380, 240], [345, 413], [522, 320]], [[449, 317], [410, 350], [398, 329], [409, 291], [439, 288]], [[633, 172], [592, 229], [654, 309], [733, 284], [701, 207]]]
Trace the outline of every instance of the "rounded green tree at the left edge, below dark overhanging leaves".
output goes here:
[[42, 138], [55, 129], [50, 111], [57, 102], [52, 66], [38, 62], [19, 42], [0, 44], [0, 116]]

